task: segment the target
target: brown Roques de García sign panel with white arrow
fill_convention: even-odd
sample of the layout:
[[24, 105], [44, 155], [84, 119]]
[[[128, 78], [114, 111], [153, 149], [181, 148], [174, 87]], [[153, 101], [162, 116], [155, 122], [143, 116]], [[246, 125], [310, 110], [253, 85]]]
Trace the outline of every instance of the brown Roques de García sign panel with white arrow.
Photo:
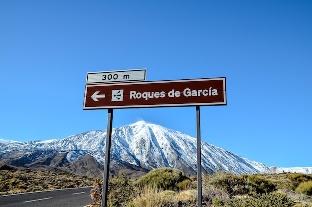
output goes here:
[[225, 78], [86, 85], [83, 109], [226, 105]]

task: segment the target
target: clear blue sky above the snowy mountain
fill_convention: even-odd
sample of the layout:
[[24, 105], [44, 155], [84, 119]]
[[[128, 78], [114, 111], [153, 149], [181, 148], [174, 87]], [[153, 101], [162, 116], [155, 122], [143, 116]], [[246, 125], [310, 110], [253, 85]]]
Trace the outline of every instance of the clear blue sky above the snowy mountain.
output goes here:
[[[87, 72], [147, 80], [226, 77], [227, 106], [201, 107], [202, 141], [265, 165], [312, 167], [311, 0], [2, 0], [0, 138], [104, 130], [82, 110]], [[196, 136], [195, 107], [116, 109]]]

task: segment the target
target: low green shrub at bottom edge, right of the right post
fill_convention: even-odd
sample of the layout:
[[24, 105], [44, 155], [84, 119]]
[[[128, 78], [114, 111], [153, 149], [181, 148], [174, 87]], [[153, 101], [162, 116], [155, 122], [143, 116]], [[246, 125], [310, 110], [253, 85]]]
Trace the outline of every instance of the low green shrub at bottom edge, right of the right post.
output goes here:
[[226, 202], [228, 207], [293, 207], [295, 202], [282, 193], [257, 194], [231, 199]]

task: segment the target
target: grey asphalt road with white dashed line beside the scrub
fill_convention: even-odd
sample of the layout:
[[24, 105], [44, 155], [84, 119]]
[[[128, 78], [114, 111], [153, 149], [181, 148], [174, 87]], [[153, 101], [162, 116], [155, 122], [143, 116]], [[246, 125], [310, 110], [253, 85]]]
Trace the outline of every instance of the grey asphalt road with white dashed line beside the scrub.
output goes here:
[[93, 187], [0, 196], [0, 207], [85, 207]]

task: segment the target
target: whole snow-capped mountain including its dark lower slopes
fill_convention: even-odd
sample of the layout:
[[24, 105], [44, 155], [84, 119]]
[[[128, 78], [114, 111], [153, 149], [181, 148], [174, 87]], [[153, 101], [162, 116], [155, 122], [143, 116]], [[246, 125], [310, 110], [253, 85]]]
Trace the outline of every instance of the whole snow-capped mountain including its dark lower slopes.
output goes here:
[[[75, 171], [92, 176], [101, 173], [105, 157], [106, 130], [89, 131], [63, 139], [16, 142], [0, 140], [0, 164], [19, 167], [48, 166], [54, 170]], [[272, 173], [263, 165], [209, 143], [201, 142], [202, 173], [222, 169], [235, 174]], [[170, 167], [196, 175], [196, 138], [139, 121], [112, 131], [110, 170], [132, 169], [143, 173]], [[81, 164], [81, 162], [83, 163]], [[80, 164], [79, 164], [80, 163]], [[91, 165], [90, 163], [93, 163]], [[97, 165], [96, 167], [94, 165]], [[120, 169], [118, 169], [120, 167]], [[83, 171], [83, 172], [80, 172]], [[97, 176], [100, 177], [100, 176]]]

